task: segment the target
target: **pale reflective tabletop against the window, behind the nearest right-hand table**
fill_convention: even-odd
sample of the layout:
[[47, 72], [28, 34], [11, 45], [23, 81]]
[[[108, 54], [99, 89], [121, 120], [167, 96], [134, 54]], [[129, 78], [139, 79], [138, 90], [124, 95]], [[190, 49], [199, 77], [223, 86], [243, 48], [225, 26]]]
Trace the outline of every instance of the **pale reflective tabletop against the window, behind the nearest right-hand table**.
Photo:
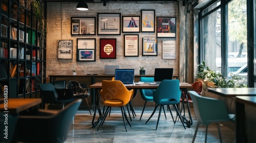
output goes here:
[[227, 98], [256, 96], [256, 88], [208, 88], [208, 91]]

